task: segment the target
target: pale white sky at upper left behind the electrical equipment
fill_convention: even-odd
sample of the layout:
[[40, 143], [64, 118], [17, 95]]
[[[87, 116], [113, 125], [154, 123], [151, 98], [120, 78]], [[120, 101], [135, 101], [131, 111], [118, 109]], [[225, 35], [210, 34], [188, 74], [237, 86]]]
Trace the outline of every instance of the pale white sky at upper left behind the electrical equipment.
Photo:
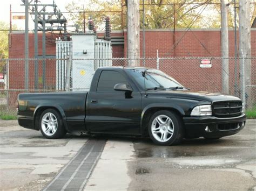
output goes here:
[[[40, 1], [40, 0], [39, 0]], [[77, 0], [78, 1], [78, 0]], [[90, 0], [80, 0], [80, 3], [88, 3]], [[52, 3], [52, 0], [41, 0], [42, 4]], [[70, 3], [71, 0], [55, 0], [55, 4], [58, 6], [60, 11], [66, 11], [65, 6]], [[23, 2], [21, 0], [4, 0], [1, 1], [0, 6], [0, 20], [9, 23], [10, 18], [10, 4], [12, 12], [25, 12], [25, 7], [22, 6]], [[25, 15], [25, 13], [13, 13], [12, 15]], [[68, 16], [68, 15], [67, 15]], [[19, 29], [24, 30], [25, 20], [14, 20], [12, 19], [12, 24], [15, 24]], [[29, 20], [30, 30], [33, 29], [33, 21]]]

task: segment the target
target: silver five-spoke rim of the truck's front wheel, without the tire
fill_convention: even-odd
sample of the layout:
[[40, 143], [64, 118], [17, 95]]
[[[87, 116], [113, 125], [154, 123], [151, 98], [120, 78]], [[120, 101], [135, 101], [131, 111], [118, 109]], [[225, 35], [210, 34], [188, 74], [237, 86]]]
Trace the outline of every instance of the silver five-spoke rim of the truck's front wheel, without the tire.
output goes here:
[[159, 115], [153, 119], [151, 132], [159, 142], [167, 142], [172, 138], [174, 125], [172, 119], [166, 115]]

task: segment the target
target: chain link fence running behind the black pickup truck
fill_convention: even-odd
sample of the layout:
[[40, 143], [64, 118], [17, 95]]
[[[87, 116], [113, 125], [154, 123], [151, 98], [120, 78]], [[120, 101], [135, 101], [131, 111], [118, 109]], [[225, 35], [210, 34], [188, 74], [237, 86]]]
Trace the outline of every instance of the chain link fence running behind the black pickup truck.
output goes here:
[[[202, 66], [207, 59], [210, 65]], [[229, 94], [240, 97], [246, 108], [256, 107], [256, 58], [240, 72], [241, 60], [229, 58], [229, 70], [222, 58], [145, 58], [145, 59], [5, 59], [5, 81], [0, 82], [0, 110], [14, 110], [19, 93], [89, 90], [99, 67], [139, 65], [160, 69], [191, 91], [221, 92], [222, 73], [228, 75]], [[246, 62], [248, 64], [248, 62]], [[201, 65], [201, 66], [200, 66]], [[249, 68], [249, 69], [248, 69]], [[5, 72], [5, 71], [4, 71]]]

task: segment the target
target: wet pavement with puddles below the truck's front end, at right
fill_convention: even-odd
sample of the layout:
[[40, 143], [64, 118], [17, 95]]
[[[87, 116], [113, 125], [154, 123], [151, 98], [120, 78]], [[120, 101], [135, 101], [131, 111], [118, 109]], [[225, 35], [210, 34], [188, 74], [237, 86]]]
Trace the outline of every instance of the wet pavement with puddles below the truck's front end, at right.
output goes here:
[[129, 190], [255, 190], [255, 122], [217, 140], [185, 139], [178, 146], [135, 141]]

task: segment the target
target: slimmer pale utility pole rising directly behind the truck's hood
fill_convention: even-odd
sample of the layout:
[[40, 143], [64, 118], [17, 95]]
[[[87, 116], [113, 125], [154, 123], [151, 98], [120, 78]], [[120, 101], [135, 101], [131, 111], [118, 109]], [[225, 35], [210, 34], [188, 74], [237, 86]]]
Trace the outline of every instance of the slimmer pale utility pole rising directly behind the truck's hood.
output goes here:
[[221, 77], [222, 92], [229, 94], [227, 2], [221, 0]]

